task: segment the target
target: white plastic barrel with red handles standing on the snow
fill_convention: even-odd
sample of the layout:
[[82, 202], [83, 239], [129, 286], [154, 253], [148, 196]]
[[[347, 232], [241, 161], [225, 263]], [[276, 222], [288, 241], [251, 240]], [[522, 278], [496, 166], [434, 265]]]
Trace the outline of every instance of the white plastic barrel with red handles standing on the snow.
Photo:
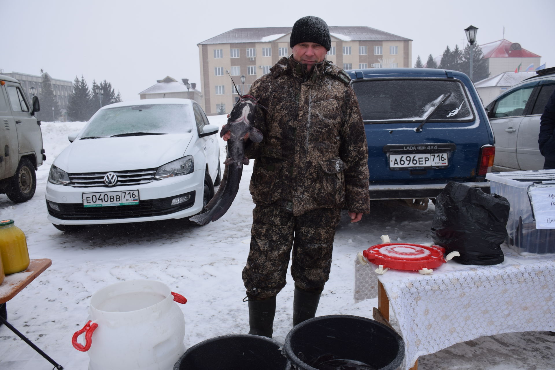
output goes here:
[[[89, 354], [89, 370], [171, 370], [185, 352], [183, 296], [158, 281], [131, 280], [90, 298], [89, 322], [73, 346]], [[85, 334], [85, 344], [77, 342]]]

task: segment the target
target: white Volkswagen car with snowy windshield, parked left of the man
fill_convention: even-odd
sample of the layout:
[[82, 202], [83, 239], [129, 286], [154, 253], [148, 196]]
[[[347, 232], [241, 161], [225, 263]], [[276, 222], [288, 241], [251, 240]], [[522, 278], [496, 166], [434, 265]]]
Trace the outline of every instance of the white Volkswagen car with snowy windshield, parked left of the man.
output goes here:
[[48, 220], [73, 231], [202, 212], [220, 181], [218, 130], [188, 99], [99, 109], [52, 164]]

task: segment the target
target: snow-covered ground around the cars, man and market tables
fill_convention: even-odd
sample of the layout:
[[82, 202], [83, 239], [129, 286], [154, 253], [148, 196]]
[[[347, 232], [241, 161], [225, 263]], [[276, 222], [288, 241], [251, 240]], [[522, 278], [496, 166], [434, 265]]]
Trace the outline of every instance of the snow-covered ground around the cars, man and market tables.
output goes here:
[[[223, 125], [225, 116], [210, 117]], [[251, 210], [248, 191], [252, 166], [246, 166], [241, 189], [228, 213], [206, 226], [185, 220], [89, 226], [64, 234], [46, 219], [44, 191], [53, 159], [69, 144], [67, 135], [84, 123], [43, 122], [47, 161], [37, 171], [32, 200], [13, 204], [0, 195], [0, 219], [14, 219], [27, 235], [31, 259], [52, 260], [41, 276], [8, 302], [8, 320], [68, 370], [85, 370], [87, 353], [72, 347], [72, 334], [87, 319], [90, 296], [123, 280], [152, 279], [168, 285], [189, 302], [185, 347], [215, 336], [248, 332], [248, 308], [241, 281], [249, 249]], [[223, 146], [223, 141], [221, 141]], [[221, 153], [225, 153], [222, 150]], [[222, 159], [223, 160], [223, 159]], [[380, 235], [412, 243], [431, 242], [433, 206], [421, 212], [399, 202], [374, 205], [371, 215], [351, 224], [346, 215], [337, 229], [331, 277], [318, 315], [372, 317], [377, 299], [354, 303], [354, 259], [380, 242]], [[284, 342], [291, 328], [293, 283], [278, 295], [274, 338]], [[395, 325], [395, 317], [392, 317]], [[8, 328], [0, 327], [0, 369], [49, 370], [52, 365]], [[420, 370], [555, 370], [555, 336], [549, 332], [504, 333], [458, 343], [420, 358]]]

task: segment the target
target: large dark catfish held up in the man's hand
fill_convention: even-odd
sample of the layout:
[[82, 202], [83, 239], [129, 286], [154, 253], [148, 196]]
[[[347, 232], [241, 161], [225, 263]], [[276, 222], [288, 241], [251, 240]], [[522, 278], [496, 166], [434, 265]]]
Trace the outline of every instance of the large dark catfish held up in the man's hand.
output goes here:
[[249, 164], [249, 159], [245, 157], [245, 135], [249, 134], [249, 139], [256, 143], [262, 141], [262, 133], [251, 124], [255, 110], [258, 108], [257, 105], [258, 99], [251, 95], [243, 95], [231, 110], [228, 123], [220, 132], [220, 136], [224, 136], [228, 131], [230, 133], [227, 148], [228, 158], [224, 161], [225, 170], [220, 187], [206, 205], [208, 211], [191, 217], [191, 221], [199, 225], [216, 221], [228, 211], [235, 199], [239, 190], [243, 165]]

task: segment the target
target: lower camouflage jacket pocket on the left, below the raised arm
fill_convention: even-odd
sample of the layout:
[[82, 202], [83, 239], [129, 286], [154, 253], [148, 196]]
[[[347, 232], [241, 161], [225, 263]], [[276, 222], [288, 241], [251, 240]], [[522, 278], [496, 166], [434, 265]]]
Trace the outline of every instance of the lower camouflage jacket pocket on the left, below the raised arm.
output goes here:
[[250, 181], [250, 194], [255, 202], [272, 204], [280, 199], [282, 189], [283, 161], [261, 156], [255, 161]]

